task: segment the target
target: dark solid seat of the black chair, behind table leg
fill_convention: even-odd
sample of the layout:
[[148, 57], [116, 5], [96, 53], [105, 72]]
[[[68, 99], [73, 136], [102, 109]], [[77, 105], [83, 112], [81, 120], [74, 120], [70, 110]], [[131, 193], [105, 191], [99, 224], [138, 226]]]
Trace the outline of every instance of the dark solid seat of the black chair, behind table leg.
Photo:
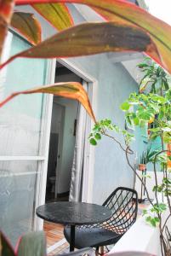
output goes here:
[[[66, 240], [70, 242], [70, 226], [64, 229]], [[116, 243], [122, 235], [111, 230], [102, 228], [77, 228], [75, 234], [75, 247], [80, 249], [83, 247], [100, 247]]]

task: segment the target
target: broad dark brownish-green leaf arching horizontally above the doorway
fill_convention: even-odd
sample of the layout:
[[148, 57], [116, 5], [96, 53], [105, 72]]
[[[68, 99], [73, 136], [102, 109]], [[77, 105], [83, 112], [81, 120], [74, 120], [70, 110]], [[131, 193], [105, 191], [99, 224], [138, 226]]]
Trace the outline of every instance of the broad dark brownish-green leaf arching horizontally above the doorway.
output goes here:
[[128, 50], [153, 54], [156, 48], [149, 36], [139, 28], [121, 26], [115, 22], [84, 23], [59, 32], [41, 44], [12, 56], [0, 68], [17, 57], [60, 58]]

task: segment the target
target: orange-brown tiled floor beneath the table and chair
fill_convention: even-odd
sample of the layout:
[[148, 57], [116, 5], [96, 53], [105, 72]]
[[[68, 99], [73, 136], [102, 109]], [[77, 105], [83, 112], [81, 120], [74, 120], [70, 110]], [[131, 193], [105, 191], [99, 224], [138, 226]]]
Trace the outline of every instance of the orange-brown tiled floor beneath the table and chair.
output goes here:
[[[143, 209], [149, 206], [149, 202], [145, 201], [141, 204], [139, 204], [139, 211], [138, 211], [138, 218], [143, 212]], [[53, 224], [48, 221], [44, 221], [44, 231], [47, 236], [47, 247], [48, 249], [52, 246], [55, 247], [55, 244], [58, 245], [58, 242], [61, 242], [62, 244], [59, 247], [56, 247], [52, 252], [48, 253], [48, 256], [54, 256], [59, 253], [62, 253], [66, 250], [67, 247], [69, 247], [69, 244], [67, 241], [64, 241], [65, 238], [63, 235], [63, 229], [64, 226], [62, 224]]]

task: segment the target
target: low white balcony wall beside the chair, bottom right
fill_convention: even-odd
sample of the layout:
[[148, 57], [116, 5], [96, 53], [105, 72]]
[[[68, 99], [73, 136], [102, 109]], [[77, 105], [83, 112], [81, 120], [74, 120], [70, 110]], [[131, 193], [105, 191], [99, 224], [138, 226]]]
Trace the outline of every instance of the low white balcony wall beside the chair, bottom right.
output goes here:
[[[148, 207], [148, 209], [150, 209]], [[168, 218], [168, 209], [162, 212], [162, 224]], [[168, 230], [171, 228], [171, 218], [168, 219]], [[165, 236], [165, 232], [163, 232]], [[152, 227], [145, 221], [145, 216], [140, 217], [133, 226], [117, 241], [116, 245], [112, 247], [108, 256], [114, 256], [117, 253], [135, 252], [150, 253], [153, 256], [162, 256], [160, 246], [160, 232], [158, 227]], [[137, 253], [138, 254], [138, 253]], [[130, 254], [131, 255], [131, 254]]]

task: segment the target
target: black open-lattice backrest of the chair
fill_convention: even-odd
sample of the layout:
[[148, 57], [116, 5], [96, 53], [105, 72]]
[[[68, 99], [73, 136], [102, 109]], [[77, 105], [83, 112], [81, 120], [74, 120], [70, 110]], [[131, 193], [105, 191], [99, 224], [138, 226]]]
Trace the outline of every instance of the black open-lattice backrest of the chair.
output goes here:
[[112, 212], [111, 218], [103, 224], [103, 227], [123, 234], [134, 224], [137, 218], [137, 192], [134, 189], [118, 187], [105, 200], [103, 206], [109, 207]]

